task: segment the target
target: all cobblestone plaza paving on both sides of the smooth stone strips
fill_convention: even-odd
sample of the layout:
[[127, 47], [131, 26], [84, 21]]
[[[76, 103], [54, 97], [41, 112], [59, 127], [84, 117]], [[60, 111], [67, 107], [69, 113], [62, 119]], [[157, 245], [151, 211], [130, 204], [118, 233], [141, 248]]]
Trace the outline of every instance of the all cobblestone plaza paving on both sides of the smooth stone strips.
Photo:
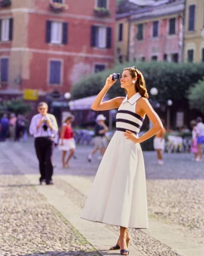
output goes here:
[[[33, 170], [38, 173], [32, 140], [26, 143], [2, 143], [0, 151], [3, 152], [1, 149], [13, 150], [15, 154], [24, 157], [28, 167], [32, 167], [23, 170], [24, 173], [33, 173]], [[57, 175], [67, 173], [86, 176], [92, 180], [99, 160], [96, 156], [91, 163], [87, 161], [87, 154], [91, 150], [92, 147], [89, 146], [77, 147], [77, 159], [71, 160], [69, 169], [61, 168], [59, 150], [55, 150], [53, 157], [57, 165], [54, 175], [56, 186], [79, 207], [83, 207], [85, 196]], [[191, 161], [190, 154], [165, 154], [164, 166], [156, 165], [154, 152], [144, 152], [144, 158], [149, 216], [166, 222], [174, 230], [203, 243], [204, 163]], [[17, 170], [15, 163], [10, 163], [6, 157], [0, 158], [0, 174], [4, 174], [0, 176], [0, 201], [3, 205], [0, 209], [0, 219], [3, 223], [0, 255], [37, 256], [45, 252], [43, 255], [98, 255], [74, 227], [46, 203], [34, 187], [28, 186], [28, 181], [20, 175], [22, 172]], [[40, 219], [46, 221], [41, 222]], [[56, 223], [59, 223], [57, 227]], [[118, 233], [118, 227], [109, 228]], [[131, 229], [130, 233], [132, 243], [144, 255], [178, 256], [168, 246], [149, 237], [142, 230]]]

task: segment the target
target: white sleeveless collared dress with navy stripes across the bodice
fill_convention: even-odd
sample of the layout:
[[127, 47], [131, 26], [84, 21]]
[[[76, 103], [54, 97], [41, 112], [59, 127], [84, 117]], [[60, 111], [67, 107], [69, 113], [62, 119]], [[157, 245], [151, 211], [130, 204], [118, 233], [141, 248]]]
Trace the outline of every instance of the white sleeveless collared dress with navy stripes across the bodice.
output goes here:
[[105, 151], [81, 218], [121, 227], [148, 228], [145, 166], [139, 143], [124, 137], [139, 133], [143, 118], [135, 113], [139, 93], [121, 103], [116, 131]]

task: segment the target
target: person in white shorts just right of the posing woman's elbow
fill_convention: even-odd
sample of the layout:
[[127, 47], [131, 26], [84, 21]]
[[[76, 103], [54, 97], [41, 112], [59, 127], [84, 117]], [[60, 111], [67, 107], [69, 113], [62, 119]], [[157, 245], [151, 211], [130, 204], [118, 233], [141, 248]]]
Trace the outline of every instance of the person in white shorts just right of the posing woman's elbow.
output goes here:
[[[164, 120], [161, 120], [162, 124], [164, 125]], [[166, 129], [163, 128], [161, 131], [158, 131], [155, 135], [154, 138], [154, 149], [157, 152], [157, 160], [158, 160], [158, 164], [159, 165], [163, 165], [164, 164], [164, 160], [163, 160], [163, 150], [164, 150], [164, 146], [165, 146], [165, 139], [164, 139], [164, 135], [166, 133]]]

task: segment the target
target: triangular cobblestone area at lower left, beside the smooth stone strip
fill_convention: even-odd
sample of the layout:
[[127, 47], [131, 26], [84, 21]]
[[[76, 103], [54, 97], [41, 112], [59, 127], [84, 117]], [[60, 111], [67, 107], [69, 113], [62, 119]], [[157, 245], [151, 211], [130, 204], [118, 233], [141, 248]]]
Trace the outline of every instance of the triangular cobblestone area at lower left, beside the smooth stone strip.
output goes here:
[[99, 256], [2, 156], [0, 171], [9, 174], [0, 176], [0, 256]]

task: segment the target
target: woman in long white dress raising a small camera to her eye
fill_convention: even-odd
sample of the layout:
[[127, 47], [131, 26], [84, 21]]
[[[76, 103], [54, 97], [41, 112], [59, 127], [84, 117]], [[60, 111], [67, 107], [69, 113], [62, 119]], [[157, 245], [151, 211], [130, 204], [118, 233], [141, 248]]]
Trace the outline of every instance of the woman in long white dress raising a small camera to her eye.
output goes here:
[[[120, 226], [120, 235], [110, 250], [128, 255], [128, 228], [148, 228], [145, 166], [141, 142], [163, 129], [162, 122], [148, 102], [145, 79], [136, 67], [124, 68], [121, 79], [126, 97], [103, 102], [115, 80], [110, 75], [92, 104], [93, 110], [118, 109], [116, 131], [105, 151], [81, 218]], [[141, 137], [145, 115], [152, 127]]]

